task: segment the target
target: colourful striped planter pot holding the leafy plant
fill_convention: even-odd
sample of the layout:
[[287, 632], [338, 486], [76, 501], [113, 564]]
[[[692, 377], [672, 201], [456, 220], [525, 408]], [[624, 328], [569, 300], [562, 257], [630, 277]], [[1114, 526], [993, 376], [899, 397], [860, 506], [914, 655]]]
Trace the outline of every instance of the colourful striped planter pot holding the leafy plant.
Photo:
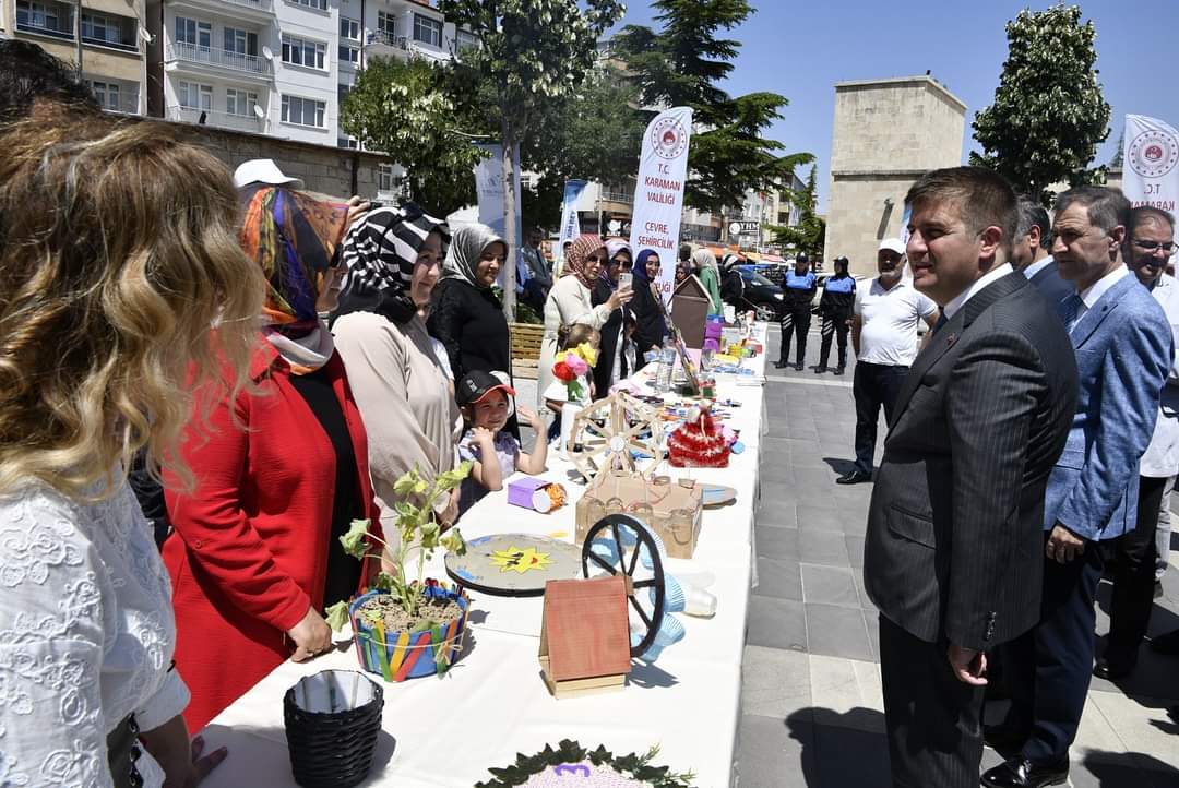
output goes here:
[[420, 633], [388, 633], [383, 625], [370, 627], [356, 617], [356, 611], [369, 598], [386, 591], [365, 591], [348, 605], [353, 622], [353, 641], [361, 667], [386, 681], [406, 681], [421, 676], [441, 676], [462, 648], [462, 635], [467, 629], [467, 608], [470, 600], [466, 594], [456, 594], [441, 585], [428, 585], [428, 597], [454, 600], [462, 608], [462, 616], [446, 628], [434, 627]]

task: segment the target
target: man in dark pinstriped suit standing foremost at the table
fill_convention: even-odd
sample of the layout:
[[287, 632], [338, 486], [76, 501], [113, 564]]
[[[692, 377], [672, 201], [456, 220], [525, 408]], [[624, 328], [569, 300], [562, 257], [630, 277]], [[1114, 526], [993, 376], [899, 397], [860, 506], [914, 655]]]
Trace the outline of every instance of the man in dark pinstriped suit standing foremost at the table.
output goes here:
[[864, 583], [880, 609], [894, 784], [976, 788], [986, 651], [1039, 614], [1045, 484], [1076, 365], [1060, 319], [1008, 263], [1006, 180], [938, 170], [907, 200], [914, 286], [943, 318], [897, 397]]

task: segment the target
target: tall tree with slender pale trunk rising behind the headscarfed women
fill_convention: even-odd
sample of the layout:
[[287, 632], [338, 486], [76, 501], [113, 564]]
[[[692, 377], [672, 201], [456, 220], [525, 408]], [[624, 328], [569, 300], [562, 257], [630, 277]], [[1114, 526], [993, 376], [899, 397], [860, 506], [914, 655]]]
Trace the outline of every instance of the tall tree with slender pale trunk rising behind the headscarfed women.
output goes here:
[[[577, 91], [597, 59], [598, 37], [623, 15], [618, 0], [439, 0], [439, 11], [479, 39], [454, 67], [490, 87], [503, 144], [503, 237], [516, 246], [515, 157], [534, 115]], [[503, 312], [515, 311], [515, 266], [505, 267]]]

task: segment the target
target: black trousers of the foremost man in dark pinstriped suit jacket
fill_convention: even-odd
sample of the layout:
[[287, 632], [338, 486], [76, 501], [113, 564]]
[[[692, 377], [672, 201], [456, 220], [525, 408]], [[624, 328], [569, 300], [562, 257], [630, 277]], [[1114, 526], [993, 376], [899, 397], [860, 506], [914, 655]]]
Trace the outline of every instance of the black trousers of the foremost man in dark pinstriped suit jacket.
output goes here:
[[946, 643], [927, 643], [883, 615], [881, 681], [893, 784], [979, 788], [982, 688], [950, 669]]

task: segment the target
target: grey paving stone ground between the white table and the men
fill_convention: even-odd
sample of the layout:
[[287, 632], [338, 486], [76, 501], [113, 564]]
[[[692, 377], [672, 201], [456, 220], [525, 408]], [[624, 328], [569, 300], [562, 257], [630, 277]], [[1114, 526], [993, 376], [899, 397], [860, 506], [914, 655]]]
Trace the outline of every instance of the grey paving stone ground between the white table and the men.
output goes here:
[[[835, 484], [854, 457], [852, 369], [842, 378], [815, 375], [818, 344], [812, 331], [805, 371], [768, 369], [770, 425], [756, 518], [759, 584], [746, 622], [738, 731], [743, 788], [889, 784], [877, 614], [861, 576], [871, 485]], [[777, 359], [776, 329], [768, 350]], [[882, 423], [881, 441], [884, 431]], [[1179, 627], [1175, 549], [1179, 536], [1152, 634]], [[1108, 590], [1104, 582], [1101, 634], [1108, 629]], [[1179, 788], [1179, 719], [1168, 715], [1177, 706], [1179, 660], [1145, 648], [1131, 680], [1094, 680], [1072, 750], [1071, 784]], [[1000, 761], [987, 749], [983, 768]]]

